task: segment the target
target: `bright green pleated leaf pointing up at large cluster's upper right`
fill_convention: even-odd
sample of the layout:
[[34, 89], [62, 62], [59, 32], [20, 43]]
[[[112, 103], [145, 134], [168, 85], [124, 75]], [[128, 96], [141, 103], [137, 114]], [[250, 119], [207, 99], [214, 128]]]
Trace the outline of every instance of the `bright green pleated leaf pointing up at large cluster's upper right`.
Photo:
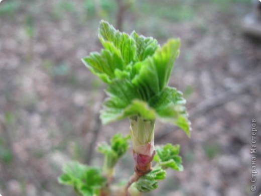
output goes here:
[[139, 89], [143, 100], [148, 101], [167, 86], [173, 63], [179, 55], [179, 46], [180, 40], [171, 39], [152, 57], [134, 65], [139, 73], [132, 83]]

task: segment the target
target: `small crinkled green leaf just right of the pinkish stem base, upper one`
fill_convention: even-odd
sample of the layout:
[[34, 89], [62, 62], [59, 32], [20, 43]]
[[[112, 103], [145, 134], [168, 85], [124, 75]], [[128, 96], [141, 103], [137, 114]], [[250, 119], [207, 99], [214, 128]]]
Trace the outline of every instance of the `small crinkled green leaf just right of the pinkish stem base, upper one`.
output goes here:
[[170, 167], [177, 171], [183, 171], [179, 151], [180, 145], [166, 144], [165, 146], [157, 147], [154, 161], [158, 162], [163, 169]]

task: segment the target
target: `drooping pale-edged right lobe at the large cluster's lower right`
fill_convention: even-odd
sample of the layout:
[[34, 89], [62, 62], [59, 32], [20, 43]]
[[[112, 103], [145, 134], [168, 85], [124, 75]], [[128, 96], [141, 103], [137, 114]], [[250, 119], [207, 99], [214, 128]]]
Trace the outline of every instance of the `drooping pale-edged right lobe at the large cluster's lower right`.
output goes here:
[[166, 87], [149, 100], [149, 105], [156, 110], [161, 121], [168, 121], [177, 125], [190, 136], [190, 121], [184, 106], [185, 103], [182, 93], [172, 87]]

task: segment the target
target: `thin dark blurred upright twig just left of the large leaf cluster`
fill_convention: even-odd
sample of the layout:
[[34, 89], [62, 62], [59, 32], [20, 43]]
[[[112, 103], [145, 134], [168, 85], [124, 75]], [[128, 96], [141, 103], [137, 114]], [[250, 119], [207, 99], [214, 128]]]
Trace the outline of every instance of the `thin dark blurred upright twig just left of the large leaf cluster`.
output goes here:
[[[104, 101], [105, 97], [106, 97], [106, 93], [105, 93], [105, 91], [103, 91], [101, 103]], [[87, 164], [91, 163], [94, 148], [95, 148], [95, 145], [96, 145], [99, 133], [100, 133], [101, 120], [100, 120], [100, 113], [99, 112], [96, 113], [96, 116], [94, 118], [94, 122], [95, 122], [95, 125], [94, 125], [93, 129], [91, 130], [92, 139], [91, 139], [91, 142], [90, 142], [89, 147], [87, 149], [87, 158], [86, 158]]]

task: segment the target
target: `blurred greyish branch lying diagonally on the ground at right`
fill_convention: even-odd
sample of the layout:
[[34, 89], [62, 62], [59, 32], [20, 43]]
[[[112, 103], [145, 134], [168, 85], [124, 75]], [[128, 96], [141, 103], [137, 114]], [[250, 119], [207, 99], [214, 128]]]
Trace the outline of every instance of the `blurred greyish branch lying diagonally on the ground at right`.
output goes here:
[[[227, 102], [234, 100], [238, 97], [238, 95], [245, 93], [252, 86], [260, 86], [261, 84], [261, 74], [257, 74], [255, 76], [251, 76], [245, 79], [244, 82], [234, 86], [230, 90], [217, 94], [215, 96], [202, 101], [196, 107], [189, 111], [189, 119], [193, 121], [197, 117], [202, 116], [202, 114], [213, 110], [219, 106], [226, 104]], [[178, 129], [178, 128], [177, 128]], [[166, 130], [160, 134], [155, 136], [155, 140], [160, 140], [165, 138], [168, 134], [172, 133], [173, 129]]]

